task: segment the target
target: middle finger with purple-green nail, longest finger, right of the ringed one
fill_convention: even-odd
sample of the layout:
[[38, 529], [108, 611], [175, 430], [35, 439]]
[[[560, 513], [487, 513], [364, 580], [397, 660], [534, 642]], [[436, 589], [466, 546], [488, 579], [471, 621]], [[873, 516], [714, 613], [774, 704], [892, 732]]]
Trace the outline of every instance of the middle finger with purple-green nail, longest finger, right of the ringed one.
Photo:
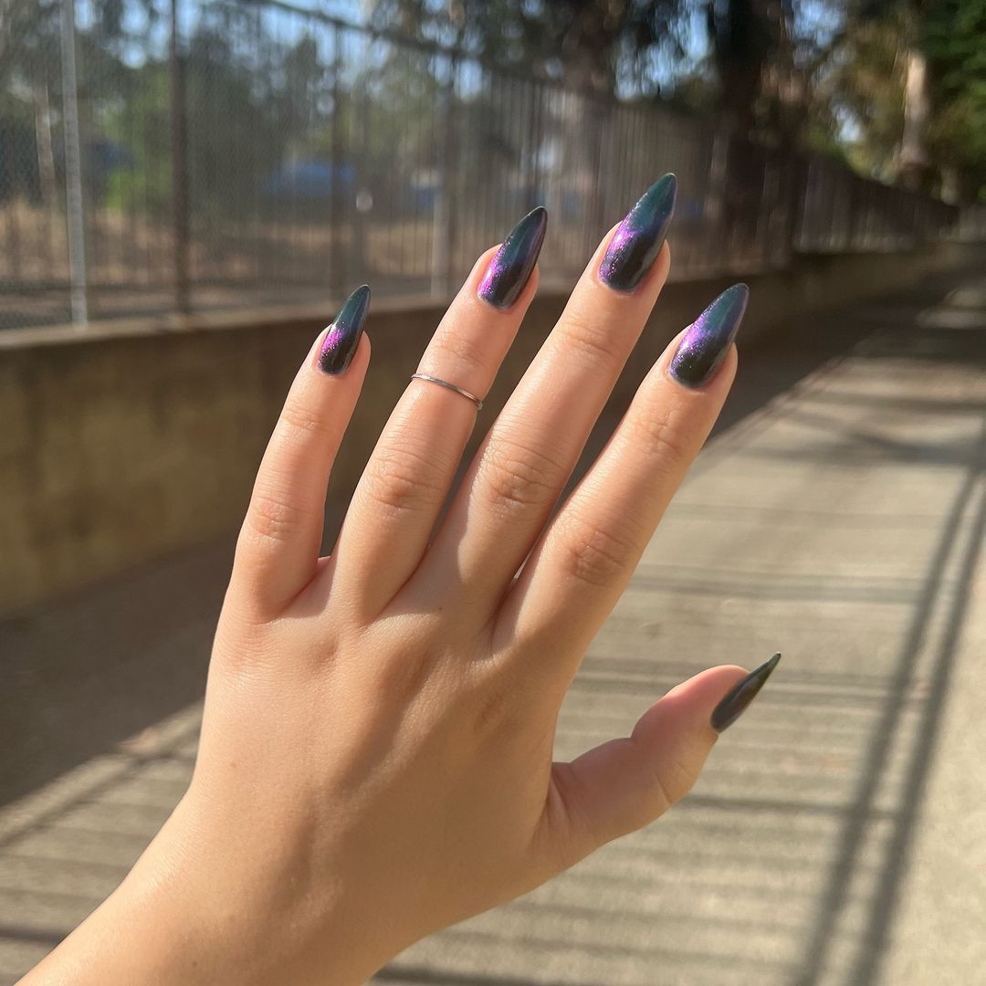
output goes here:
[[[676, 182], [652, 185], [599, 245], [466, 472], [412, 585], [492, 610], [547, 521], [668, 276]], [[450, 563], [451, 559], [451, 563]]]

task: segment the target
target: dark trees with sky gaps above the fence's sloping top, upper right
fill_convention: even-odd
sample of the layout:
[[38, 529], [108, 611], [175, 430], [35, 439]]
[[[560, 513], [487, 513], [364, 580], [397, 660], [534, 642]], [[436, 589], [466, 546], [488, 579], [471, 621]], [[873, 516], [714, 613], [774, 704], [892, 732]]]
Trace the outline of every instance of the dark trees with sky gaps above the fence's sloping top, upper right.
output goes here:
[[983, 185], [986, 0], [377, 0], [373, 22], [884, 180], [901, 175], [908, 64], [927, 56], [924, 179]]

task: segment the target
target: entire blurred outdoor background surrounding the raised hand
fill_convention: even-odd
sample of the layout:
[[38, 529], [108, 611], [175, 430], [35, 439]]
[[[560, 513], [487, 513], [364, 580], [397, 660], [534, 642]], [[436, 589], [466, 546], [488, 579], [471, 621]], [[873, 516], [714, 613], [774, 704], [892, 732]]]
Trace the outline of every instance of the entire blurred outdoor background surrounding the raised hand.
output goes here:
[[558, 755], [785, 660], [669, 818], [378, 981], [986, 981], [986, 0], [0, 0], [0, 982], [187, 783], [334, 306], [371, 284], [326, 545], [476, 255], [548, 208], [488, 423], [669, 171], [671, 283], [576, 474], [741, 278], [740, 378]]

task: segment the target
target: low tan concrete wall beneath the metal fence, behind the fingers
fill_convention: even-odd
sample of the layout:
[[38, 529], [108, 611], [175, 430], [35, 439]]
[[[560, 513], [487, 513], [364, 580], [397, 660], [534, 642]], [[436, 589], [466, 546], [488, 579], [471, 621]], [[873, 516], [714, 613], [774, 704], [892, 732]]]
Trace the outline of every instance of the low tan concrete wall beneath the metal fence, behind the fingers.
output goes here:
[[[806, 313], [913, 286], [954, 263], [953, 252], [805, 258], [795, 270], [747, 278], [741, 340], [777, 325], [796, 332]], [[728, 283], [668, 285], [616, 401]], [[562, 305], [547, 290], [534, 302], [482, 421], [492, 420]], [[442, 309], [374, 303], [373, 364], [333, 473], [336, 504]], [[234, 531], [288, 383], [327, 315], [251, 311], [0, 333], [0, 612]]]

